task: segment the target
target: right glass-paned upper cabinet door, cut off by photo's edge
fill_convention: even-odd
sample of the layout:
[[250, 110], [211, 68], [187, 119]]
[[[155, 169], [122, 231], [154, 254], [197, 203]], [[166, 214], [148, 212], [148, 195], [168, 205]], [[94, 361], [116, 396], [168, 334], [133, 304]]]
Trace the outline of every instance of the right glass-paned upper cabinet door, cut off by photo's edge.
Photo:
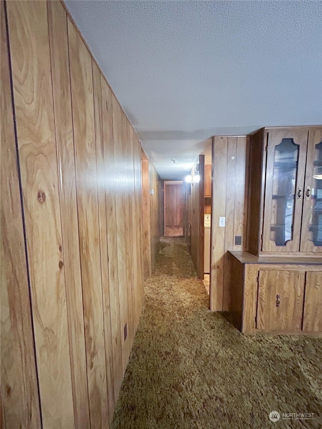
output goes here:
[[301, 252], [322, 252], [322, 180], [318, 175], [322, 175], [322, 127], [314, 127], [308, 134]]

